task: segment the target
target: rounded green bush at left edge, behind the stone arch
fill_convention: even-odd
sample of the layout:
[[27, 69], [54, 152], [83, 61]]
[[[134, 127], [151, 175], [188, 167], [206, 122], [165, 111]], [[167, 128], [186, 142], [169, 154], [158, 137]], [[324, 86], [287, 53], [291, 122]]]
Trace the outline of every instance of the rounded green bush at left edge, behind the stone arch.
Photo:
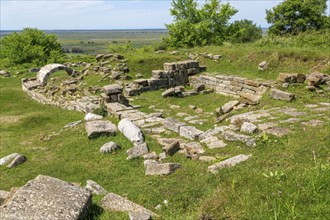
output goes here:
[[0, 47], [0, 58], [8, 60], [10, 65], [44, 65], [63, 57], [61, 44], [55, 35], [33, 28], [25, 28], [21, 33], [15, 32], [4, 37], [0, 40]]

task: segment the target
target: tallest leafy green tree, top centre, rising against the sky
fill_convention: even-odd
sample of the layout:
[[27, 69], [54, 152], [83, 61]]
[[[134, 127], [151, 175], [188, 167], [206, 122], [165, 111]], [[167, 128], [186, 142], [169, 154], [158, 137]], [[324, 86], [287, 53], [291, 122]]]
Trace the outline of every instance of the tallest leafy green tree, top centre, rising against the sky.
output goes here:
[[237, 10], [219, 0], [207, 1], [199, 6], [196, 0], [173, 0], [172, 24], [167, 24], [169, 38], [165, 43], [172, 47], [194, 47], [221, 44], [226, 40], [228, 21]]

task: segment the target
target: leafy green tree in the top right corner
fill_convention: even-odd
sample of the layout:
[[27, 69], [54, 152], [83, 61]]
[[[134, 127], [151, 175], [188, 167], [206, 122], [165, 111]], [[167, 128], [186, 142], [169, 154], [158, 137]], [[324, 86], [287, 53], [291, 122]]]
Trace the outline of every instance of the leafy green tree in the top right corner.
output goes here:
[[275, 35], [298, 34], [307, 30], [320, 30], [328, 25], [327, 0], [285, 0], [266, 10], [269, 32]]

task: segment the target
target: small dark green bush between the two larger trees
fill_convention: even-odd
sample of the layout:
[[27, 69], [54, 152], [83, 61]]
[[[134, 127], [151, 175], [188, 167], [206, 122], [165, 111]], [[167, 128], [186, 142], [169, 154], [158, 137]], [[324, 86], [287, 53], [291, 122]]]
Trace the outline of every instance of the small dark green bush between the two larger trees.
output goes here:
[[262, 38], [262, 30], [251, 20], [235, 21], [228, 27], [228, 40], [232, 43], [254, 42]]

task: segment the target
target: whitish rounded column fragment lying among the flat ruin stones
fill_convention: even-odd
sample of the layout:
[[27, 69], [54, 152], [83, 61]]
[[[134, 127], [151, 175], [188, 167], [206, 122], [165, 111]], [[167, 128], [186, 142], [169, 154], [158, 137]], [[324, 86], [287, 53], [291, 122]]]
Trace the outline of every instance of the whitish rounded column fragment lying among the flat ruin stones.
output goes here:
[[132, 143], [142, 144], [144, 142], [141, 129], [130, 120], [122, 119], [118, 124], [118, 129]]

